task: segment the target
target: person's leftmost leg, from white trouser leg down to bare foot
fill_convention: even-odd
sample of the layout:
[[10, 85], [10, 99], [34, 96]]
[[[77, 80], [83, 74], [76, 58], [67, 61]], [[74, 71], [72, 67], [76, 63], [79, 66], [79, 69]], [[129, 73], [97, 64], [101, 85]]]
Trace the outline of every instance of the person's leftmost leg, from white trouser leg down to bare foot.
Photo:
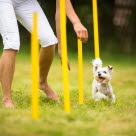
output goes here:
[[0, 3], [0, 33], [4, 44], [4, 51], [0, 59], [0, 82], [3, 92], [2, 104], [5, 107], [14, 107], [11, 85], [15, 68], [15, 56], [20, 43], [17, 20], [11, 3]]

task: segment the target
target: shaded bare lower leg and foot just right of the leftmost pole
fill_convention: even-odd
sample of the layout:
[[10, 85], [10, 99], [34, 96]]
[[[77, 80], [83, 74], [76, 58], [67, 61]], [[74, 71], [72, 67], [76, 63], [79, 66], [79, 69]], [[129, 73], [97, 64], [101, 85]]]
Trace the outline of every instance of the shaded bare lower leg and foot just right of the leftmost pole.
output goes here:
[[57, 94], [48, 85], [47, 76], [54, 57], [55, 45], [42, 47], [40, 50], [40, 89], [49, 99], [59, 101]]

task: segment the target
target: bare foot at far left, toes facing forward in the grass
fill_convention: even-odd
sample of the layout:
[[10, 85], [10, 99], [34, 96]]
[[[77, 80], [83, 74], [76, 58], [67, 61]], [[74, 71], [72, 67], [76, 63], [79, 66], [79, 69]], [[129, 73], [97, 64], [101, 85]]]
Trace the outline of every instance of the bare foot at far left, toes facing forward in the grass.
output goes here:
[[15, 107], [11, 98], [3, 98], [2, 105], [6, 108], [14, 108]]

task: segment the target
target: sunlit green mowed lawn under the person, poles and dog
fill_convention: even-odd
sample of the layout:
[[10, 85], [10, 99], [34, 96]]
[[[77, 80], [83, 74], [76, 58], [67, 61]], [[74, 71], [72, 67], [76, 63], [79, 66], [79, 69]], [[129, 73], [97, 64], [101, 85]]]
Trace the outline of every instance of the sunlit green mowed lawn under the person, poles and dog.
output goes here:
[[77, 55], [69, 55], [71, 113], [64, 112], [62, 72], [56, 56], [49, 83], [61, 102], [49, 101], [40, 91], [40, 117], [35, 121], [31, 118], [30, 56], [19, 53], [12, 86], [16, 108], [6, 109], [0, 104], [0, 136], [136, 136], [136, 56], [102, 57], [104, 65], [114, 66], [111, 83], [116, 103], [112, 104], [92, 100], [93, 56], [84, 55], [84, 105], [78, 104]]

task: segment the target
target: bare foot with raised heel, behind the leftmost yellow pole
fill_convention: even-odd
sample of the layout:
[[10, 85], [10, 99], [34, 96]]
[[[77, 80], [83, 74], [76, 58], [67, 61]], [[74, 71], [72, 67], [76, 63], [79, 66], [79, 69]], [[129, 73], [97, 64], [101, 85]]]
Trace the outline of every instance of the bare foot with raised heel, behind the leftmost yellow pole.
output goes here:
[[49, 99], [60, 102], [58, 95], [50, 88], [49, 85], [41, 85], [40, 90], [44, 91]]

